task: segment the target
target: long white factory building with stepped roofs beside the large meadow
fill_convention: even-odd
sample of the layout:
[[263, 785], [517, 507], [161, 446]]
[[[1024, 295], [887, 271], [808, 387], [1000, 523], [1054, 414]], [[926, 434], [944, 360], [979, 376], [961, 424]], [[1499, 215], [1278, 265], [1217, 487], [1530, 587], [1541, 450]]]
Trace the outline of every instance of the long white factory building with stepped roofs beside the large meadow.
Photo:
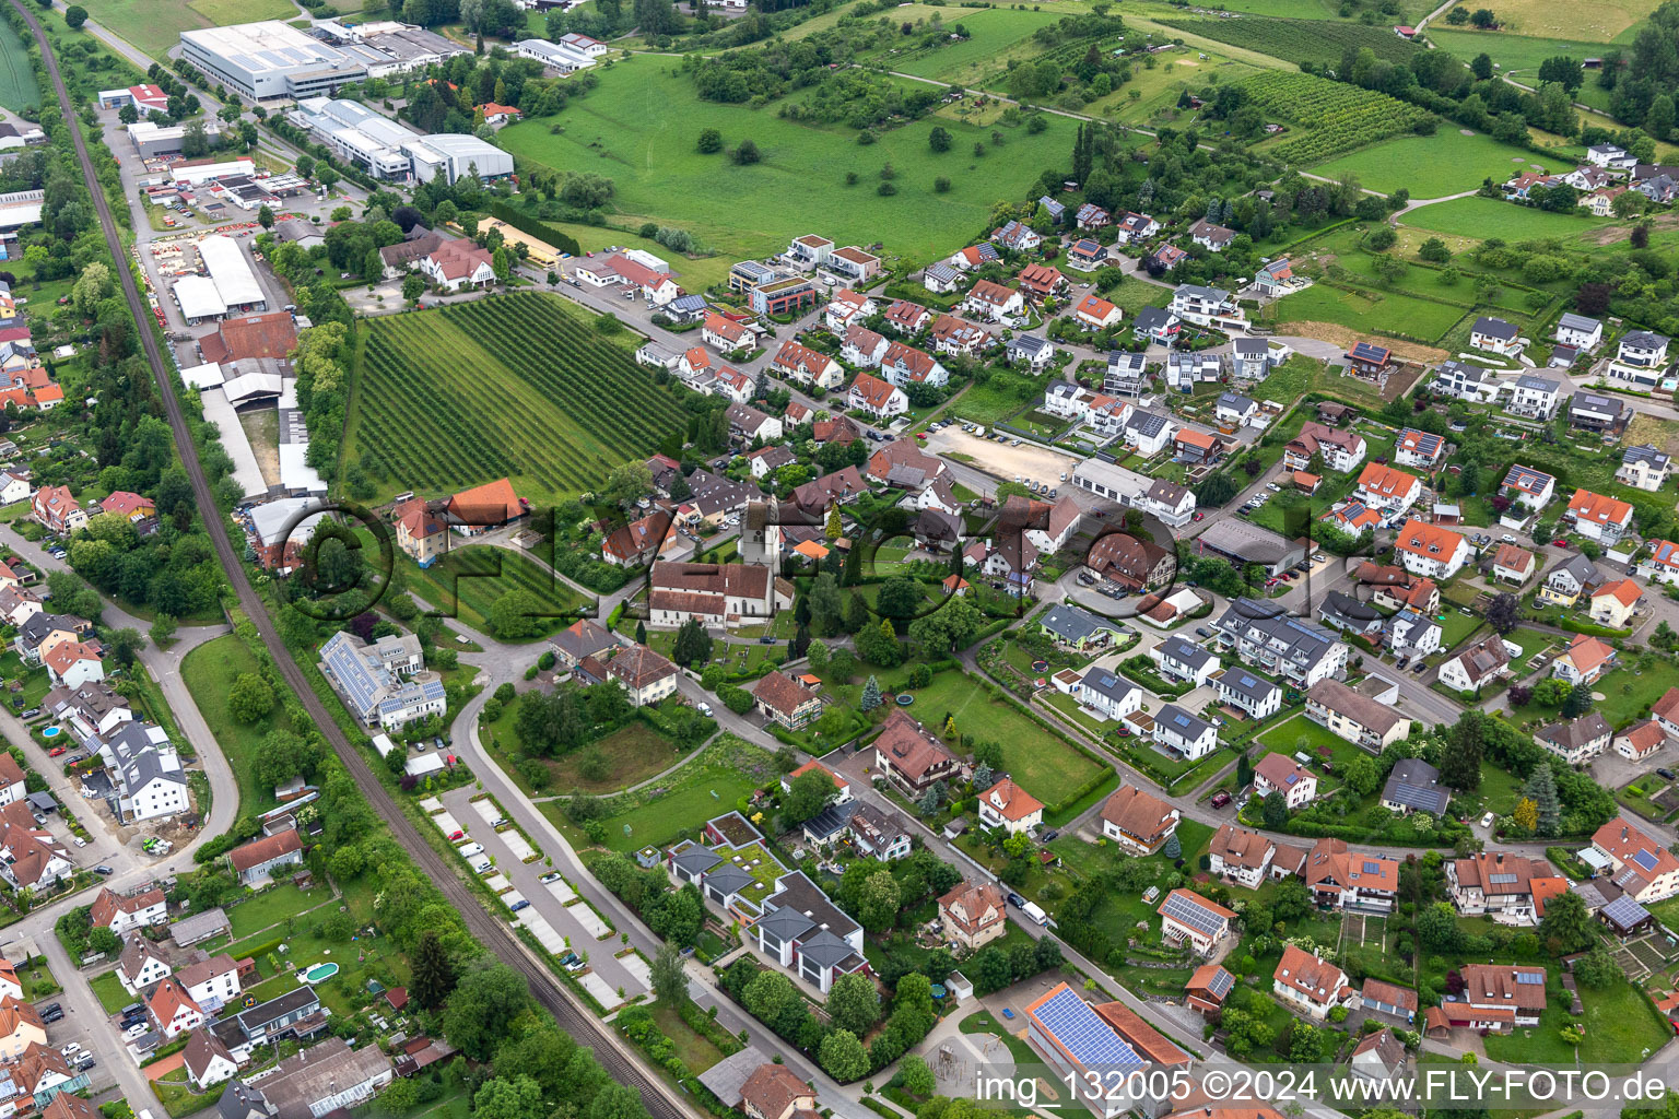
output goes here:
[[381, 180], [430, 183], [442, 171], [453, 183], [473, 169], [480, 180], [514, 173], [514, 158], [477, 136], [425, 136], [354, 101], [311, 97], [301, 101], [287, 119]]

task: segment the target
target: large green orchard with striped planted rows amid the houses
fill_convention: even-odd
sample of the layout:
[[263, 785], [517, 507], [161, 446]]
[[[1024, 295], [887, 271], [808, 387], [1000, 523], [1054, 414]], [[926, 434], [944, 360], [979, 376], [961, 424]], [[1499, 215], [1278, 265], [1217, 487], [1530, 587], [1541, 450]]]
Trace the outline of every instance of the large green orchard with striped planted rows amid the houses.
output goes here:
[[532, 502], [576, 495], [683, 424], [675, 396], [554, 295], [376, 319], [356, 377], [346, 453], [376, 451], [391, 487], [423, 493], [505, 475]]

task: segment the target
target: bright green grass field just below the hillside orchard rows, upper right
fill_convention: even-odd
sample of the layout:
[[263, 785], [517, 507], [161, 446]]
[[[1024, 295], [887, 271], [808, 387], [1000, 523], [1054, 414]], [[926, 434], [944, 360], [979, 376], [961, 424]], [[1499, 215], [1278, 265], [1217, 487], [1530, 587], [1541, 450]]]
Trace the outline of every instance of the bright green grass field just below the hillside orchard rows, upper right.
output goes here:
[[1474, 190], [1488, 176], [1503, 183], [1533, 164], [1546, 171], [1573, 168], [1573, 161], [1558, 158], [1546, 164], [1531, 151], [1501, 144], [1491, 136], [1464, 136], [1456, 128], [1442, 126], [1434, 136], [1400, 136], [1320, 163], [1311, 173], [1340, 178], [1350, 171], [1370, 190], [1392, 193], [1404, 186], [1412, 198], [1441, 198]]

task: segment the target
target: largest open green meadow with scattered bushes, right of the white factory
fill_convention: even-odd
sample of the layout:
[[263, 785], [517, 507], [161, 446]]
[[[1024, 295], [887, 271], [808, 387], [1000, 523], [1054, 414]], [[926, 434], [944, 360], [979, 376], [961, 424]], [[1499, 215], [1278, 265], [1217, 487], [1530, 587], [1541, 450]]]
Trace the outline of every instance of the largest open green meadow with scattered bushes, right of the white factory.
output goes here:
[[[1001, 129], [1004, 146], [992, 148], [989, 128], [942, 121], [955, 143], [935, 154], [927, 146], [934, 126], [918, 121], [861, 148], [855, 129], [784, 121], [781, 106], [704, 102], [672, 70], [668, 59], [616, 62], [557, 117], [562, 134], [544, 119], [502, 129], [500, 141], [527, 163], [613, 180], [611, 205], [626, 218], [682, 225], [754, 255], [819, 232], [840, 245], [885, 242], [890, 253], [934, 260], [982, 230], [996, 201], [1026, 196], [1043, 168], [1059, 166], [1075, 128], [1049, 116], [1036, 136]], [[697, 153], [705, 128], [720, 129], [727, 148], [752, 139], [762, 161], [734, 166], [725, 154]], [[987, 144], [981, 158], [975, 141]], [[890, 198], [875, 193], [887, 163], [897, 171]], [[858, 173], [855, 186], [848, 171]], [[934, 191], [940, 176], [949, 193]]]

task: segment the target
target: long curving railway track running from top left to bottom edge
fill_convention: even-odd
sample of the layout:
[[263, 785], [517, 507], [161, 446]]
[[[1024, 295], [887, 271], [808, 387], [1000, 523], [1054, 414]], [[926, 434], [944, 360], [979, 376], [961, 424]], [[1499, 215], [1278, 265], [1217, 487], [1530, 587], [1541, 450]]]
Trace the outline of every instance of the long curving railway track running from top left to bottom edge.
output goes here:
[[220, 559], [222, 569], [227, 572], [228, 582], [232, 582], [233, 591], [238, 596], [240, 607], [257, 626], [257, 632], [262, 634], [262, 643], [274, 658], [274, 664], [279, 668], [280, 676], [302, 701], [304, 708], [309, 711], [309, 718], [314, 720], [316, 726], [321, 728], [321, 733], [332, 743], [332, 750], [337, 752], [339, 760], [356, 780], [356, 787], [368, 799], [368, 804], [381, 817], [384, 817], [391, 834], [403, 846], [403, 849], [408, 851], [408, 856], [415, 861], [420, 871], [437, 882], [440, 891], [443, 891], [443, 896], [462, 914], [467, 928], [479, 939], [479, 943], [526, 978], [532, 997], [551, 1015], [554, 1015], [554, 1020], [562, 1030], [566, 1030], [566, 1033], [569, 1033], [578, 1044], [589, 1045], [594, 1050], [594, 1059], [606, 1069], [608, 1075], [620, 1084], [635, 1087], [641, 1094], [641, 1102], [646, 1106], [646, 1111], [653, 1119], [692, 1119], [692, 1116], [697, 1116], [698, 1111], [688, 1106], [663, 1080], [651, 1075], [636, 1060], [626, 1055], [618, 1047], [618, 1038], [611, 1033], [611, 1030], [591, 1012], [573, 1000], [571, 993], [559, 985], [552, 973], [532, 958], [524, 943], [514, 936], [512, 929], [504, 921], [484, 909], [472, 891], [467, 889], [465, 882], [460, 881], [455, 867], [450, 866], [443, 856], [440, 856], [432, 844], [420, 835], [408, 817], [403, 815], [396, 802], [391, 799], [390, 790], [386, 790], [384, 785], [373, 775], [373, 770], [368, 768], [363, 753], [356, 750], [349, 738], [346, 738], [337, 721], [321, 705], [314, 688], [309, 686], [302, 669], [296, 661], [292, 661], [290, 653], [285, 649], [285, 644], [280, 641], [280, 636], [269, 617], [267, 606], [257, 596], [255, 587], [252, 587], [250, 579], [245, 574], [240, 557], [233, 552], [232, 542], [220, 528], [223, 522], [222, 510], [217, 507], [215, 497], [210, 493], [210, 483], [205, 478], [203, 465], [198, 461], [198, 448], [191, 440], [191, 431], [186, 428], [181, 403], [175, 394], [175, 383], [170, 377], [168, 364], [163, 361], [163, 352], [158, 349], [158, 339], [151, 329], [151, 310], [139, 292], [139, 285], [134, 282], [133, 268], [128, 267], [128, 252], [123, 247], [116, 220], [111, 215], [111, 201], [106, 198], [106, 193], [99, 186], [99, 180], [94, 174], [94, 163], [87, 154], [87, 143], [82, 138], [81, 122], [76, 117], [76, 106], [71, 102], [64, 75], [59, 72], [59, 60], [52, 54], [52, 42], [40, 27], [40, 20], [37, 20], [24, 3], [12, 0], [12, 7], [24, 15], [30, 32], [35, 35], [35, 42], [40, 45], [42, 62], [47, 67], [47, 75], [52, 79], [59, 107], [64, 111], [64, 121], [76, 143], [76, 158], [81, 161], [82, 176], [87, 181], [94, 210], [99, 215], [99, 225], [104, 230], [106, 245], [111, 250], [111, 258], [116, 265], [116, 275], [123, 284], [123, 297], [128, 300], [129, 312], [134, 315], [134, 325], [139, 332], [141, 347], [144, 349], [146, 361], [151, 364], [151, 374], [158, 383], [158, 391], [163, 396], [170, 431], [175, 435], [175, 445], [180, 450], [181, 463], [193, 483], [193, 500], [198, 505], [198, 515], [205, 522], [217, 559]]

